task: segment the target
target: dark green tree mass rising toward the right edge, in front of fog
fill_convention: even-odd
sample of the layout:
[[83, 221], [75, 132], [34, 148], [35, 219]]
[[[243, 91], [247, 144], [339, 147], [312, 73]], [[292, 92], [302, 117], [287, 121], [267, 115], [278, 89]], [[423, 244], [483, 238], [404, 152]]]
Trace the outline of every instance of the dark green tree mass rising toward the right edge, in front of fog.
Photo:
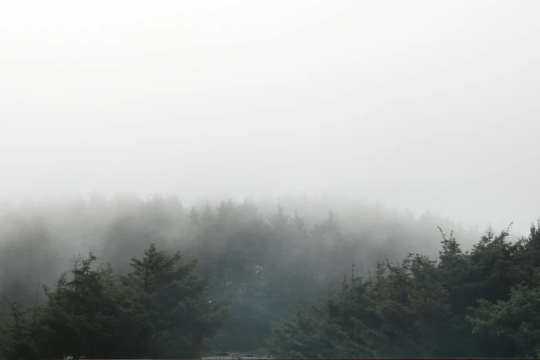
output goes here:
[[290, 358], [540, 357], [539, 228], [517, 243], [489, 230], [471, 253], [443, 234], [437, 261], [379, 262], [326, 301], [274, 323], [270, 353]]

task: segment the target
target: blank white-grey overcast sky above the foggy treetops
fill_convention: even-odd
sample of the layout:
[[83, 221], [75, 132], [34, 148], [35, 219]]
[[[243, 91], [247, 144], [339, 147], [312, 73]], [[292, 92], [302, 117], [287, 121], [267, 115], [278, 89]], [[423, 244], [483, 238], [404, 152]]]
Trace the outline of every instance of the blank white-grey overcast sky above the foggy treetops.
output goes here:
[[[5, 1], [0, 198], [540, 217], [540, 1]], [[499, 227], [500, 227], [499, 226]]]

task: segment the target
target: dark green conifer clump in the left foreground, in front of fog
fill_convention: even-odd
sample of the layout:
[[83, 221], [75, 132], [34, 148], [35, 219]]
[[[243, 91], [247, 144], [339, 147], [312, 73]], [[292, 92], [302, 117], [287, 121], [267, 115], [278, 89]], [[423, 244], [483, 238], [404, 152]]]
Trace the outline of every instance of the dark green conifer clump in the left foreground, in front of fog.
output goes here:
[[[228, 314], [228, 298], [209, 301], [209, 277], [196, 261], [179, 265], [180, 253], [152, 244], [132, 271], [117, 279], [112, 268], [92, 266], [97, 257], [74, 257], [48, 302], [22, 310], [10, 303], [12, 323], [0, 327], [6, 359], [196, 358]], [[36, 294], [37, 297], [37, 294]]]

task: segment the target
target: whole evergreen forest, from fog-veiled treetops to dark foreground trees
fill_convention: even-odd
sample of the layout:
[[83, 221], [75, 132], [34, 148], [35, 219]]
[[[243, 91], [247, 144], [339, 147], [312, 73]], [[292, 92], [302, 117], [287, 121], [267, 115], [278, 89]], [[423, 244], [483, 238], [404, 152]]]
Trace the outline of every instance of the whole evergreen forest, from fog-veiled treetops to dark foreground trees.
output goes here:
[[540, 357], [537, 222], [295, 196], [0, 211], [2, 360]]

